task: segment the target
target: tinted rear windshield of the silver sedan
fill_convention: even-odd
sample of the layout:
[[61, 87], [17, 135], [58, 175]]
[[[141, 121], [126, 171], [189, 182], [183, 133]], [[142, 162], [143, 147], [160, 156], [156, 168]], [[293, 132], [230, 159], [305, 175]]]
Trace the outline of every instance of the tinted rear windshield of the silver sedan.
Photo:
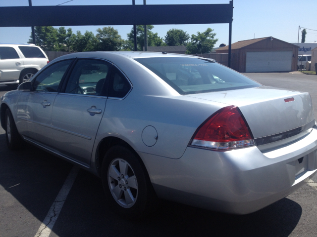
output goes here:
[[136, 58], [182, 95], [258, 87], [261, 84], [208, 59]]

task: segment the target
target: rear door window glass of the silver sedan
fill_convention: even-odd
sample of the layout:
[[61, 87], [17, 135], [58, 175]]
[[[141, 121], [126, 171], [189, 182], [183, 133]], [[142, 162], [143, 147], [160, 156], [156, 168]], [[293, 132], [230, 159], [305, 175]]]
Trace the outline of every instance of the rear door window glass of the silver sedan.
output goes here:
[[98, 59], [79, 59], [67, 82], [65, 93], [106, 95], [110, 64]]

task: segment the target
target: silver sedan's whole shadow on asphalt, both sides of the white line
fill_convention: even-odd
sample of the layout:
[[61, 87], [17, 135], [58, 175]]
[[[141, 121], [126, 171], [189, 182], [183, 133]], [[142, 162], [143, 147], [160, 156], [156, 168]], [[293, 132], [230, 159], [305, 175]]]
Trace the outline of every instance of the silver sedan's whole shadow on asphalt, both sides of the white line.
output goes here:
[[[33, 146], [9, 151], [5, 134], [0, 135], [0, 154], [0, 185], [42, 222], [72, 164]], [[80, 170], [50, 237], [286, 237], [301, 215], [302, 207], [288, 198], [248, 215], [222, 214], [162, 201], [159, 210], [147, 218], [128, 221], [106, 203], [101, 179]]]

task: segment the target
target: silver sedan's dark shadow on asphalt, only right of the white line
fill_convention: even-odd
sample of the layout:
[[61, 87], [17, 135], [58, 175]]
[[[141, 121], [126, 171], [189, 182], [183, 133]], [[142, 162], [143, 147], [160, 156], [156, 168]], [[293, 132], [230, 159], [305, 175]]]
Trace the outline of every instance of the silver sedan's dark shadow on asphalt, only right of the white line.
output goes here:
[[101, 180], [81, 170], [53, 232], [58, 237], [287, 237], [301, 215], [302, 207], [288, 198], [248, 215], [222, 214], [162, 201], [152, 215], [128, 221], [106, 203]]

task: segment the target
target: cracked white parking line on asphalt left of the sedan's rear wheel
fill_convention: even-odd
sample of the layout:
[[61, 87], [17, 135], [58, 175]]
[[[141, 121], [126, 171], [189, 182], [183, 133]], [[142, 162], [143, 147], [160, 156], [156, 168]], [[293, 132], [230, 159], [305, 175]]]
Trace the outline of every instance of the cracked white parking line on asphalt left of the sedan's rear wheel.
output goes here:
[[35, 237], [49, 237], [80, 168], [73, 166]]

